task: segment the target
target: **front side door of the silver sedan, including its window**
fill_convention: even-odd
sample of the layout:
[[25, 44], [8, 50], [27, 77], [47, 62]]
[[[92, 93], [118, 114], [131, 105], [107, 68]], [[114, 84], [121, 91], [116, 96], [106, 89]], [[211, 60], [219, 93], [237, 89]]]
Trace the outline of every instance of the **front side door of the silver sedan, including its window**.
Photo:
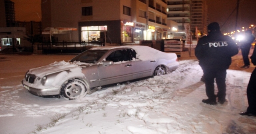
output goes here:
[[98, 66], [98, 75], [101, 86], [132, 79], [130, 68], [130, 66], [132, 66], [132, 59], [126, 49], [110, 52], [106, 60], [112, 61], [114, 64], [100, 64]]

